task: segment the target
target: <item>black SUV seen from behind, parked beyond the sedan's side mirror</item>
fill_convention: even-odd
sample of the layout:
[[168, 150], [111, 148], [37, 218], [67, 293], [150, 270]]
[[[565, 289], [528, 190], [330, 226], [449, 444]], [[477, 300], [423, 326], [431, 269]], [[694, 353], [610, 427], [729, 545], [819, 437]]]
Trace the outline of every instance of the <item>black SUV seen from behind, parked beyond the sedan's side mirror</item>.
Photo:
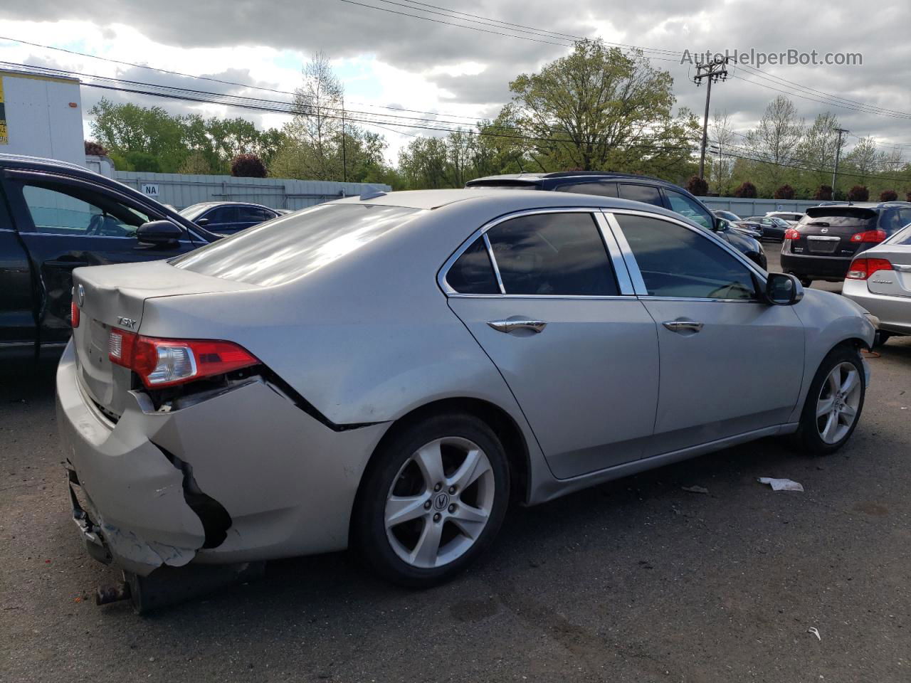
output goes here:
[[806, 209], [806, 216], [784, 232], [782, 270], [804, 287], [813, 280], [841, 282], [856, 254], [911, 223], [911, 203], [828, 202]]

